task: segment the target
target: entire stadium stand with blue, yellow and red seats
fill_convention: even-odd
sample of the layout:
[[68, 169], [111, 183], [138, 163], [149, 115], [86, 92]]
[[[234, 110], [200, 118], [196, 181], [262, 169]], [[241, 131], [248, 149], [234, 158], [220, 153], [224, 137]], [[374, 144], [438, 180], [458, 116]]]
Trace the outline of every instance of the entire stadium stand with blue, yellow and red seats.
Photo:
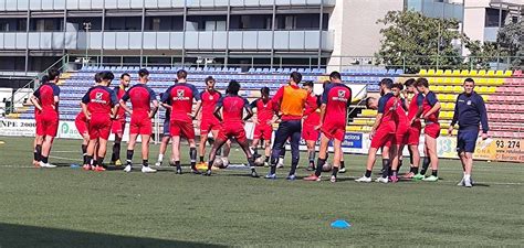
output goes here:
[[[176, 72], [181, 67], [148, 67], [150, 71], [149, 85], [157, 93], [164, 90], [172, 84]], [[80, 99], [87, 88], [93, 84], [93, 75], [99, 71], [112, 71], [115, 76], [122, 73], [129, 73], [132, 80], [136, 80], [138, 66], [85, 66], [77, 72], [64, 73], [59, 85], [61, 86], [60, 112], [62, 120], [74, 120], [80, 111]], [[274, 93], [284, 85], [289, 74], [293, 71], [301, 72], [303, 80], [322, 82], [327, 79], [326, 71], [321, 68], [250, 68], [242, 73], [238, 67], [189, 67], [188, 82], [199, 89], [203, 89], [203, 79], [211, 75], [217, 79], [217, 88], [224, 90], [231, 79], [242, 84], [241, 95], [253, 99], [259, 97], [259, 89], [263, 86], [270, 87]], [[421, 69], [417, 75], [404, 75], [401, 69], [343, 69], [340, 72], [343, 80], [347, 84], [366, 84], [369, 94], [378, 93], [379, 82], [384, 77], [391, 77], [396, 82], [404, 82], [409, 77], [427, 77], [430, 82], [430, 89], [437, 93], [442, 104], [441, 134], [448, 134], [448, 127], [453, 118], [454, 101], [458, 94], [462, 91], [464, 78], [472, 77], [476, 87], [475, 90], [483, 96], [486, 101], [491, 136], [499, 138], [524, 138], [524, 75], [522, 71], [451, 71], [451, 69]], [[114, 85], [118, 83], [114, 80]], [[18, 108], [9, 118], [32, 119], [34, 116], [32, 107]], [[361, 112], [350, 119], [347, 131], [369, 132], [376, 116], [376, 110], [361, 109]], [[164, 112], [160, 111], [160, 118]], [[455, 132], [453, 133], [455, 134]]]

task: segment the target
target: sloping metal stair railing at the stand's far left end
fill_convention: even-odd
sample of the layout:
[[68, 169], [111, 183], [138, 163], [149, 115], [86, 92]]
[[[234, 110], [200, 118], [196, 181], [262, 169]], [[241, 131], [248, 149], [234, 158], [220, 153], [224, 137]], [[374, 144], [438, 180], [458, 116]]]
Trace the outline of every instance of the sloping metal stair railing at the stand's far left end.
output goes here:
[[9, 110], [9, 111], [6, 111], [6, 112], [11, 114], [11, 112], [14, 111], [14, 108], [15, 108], [17, 105], [23, 104], [23, 101], [27, 100], [31, 96], [31, 94], [40, 86], [40, 78], [42, 78], [42, 76], [46, 75], [49, 69], [51, 69], [51, 68], [56, 68], [59, 71], [64, 69], [69, 64], [69, 58], [70, 58], [70, 55], [65, 54], [60, 60], [57, 60], [55, 63], [53, 63], [48, 68], [45, 68], [43, 72], [39, 73], [28, 84], [25, 84], [24, 86], [18, 88], [11, 95], [10, 98], [6, 99], [6, 103], [9, 103], [9, 106], [6, 106], [7, 110]]

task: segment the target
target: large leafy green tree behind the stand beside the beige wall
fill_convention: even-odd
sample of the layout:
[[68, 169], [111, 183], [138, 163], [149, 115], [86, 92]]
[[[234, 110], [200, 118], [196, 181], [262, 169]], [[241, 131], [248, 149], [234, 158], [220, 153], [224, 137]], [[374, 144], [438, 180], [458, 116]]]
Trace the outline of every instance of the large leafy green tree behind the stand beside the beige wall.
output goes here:
[[[459, 22], [453, 19], [425, 17], [415, 11], [389, 11], [377, 21], [386, 28], [380, 30], [384, 39], [376, 54], [387, 67], [404, 66], [407, 73], [418, 73], [421, 68], [438, 67], [469, 68], [489, 67], [496, 56], [496, 45], [471, 41], [459, 31]], [[461, 44], [480, 60], [464, 61]]]

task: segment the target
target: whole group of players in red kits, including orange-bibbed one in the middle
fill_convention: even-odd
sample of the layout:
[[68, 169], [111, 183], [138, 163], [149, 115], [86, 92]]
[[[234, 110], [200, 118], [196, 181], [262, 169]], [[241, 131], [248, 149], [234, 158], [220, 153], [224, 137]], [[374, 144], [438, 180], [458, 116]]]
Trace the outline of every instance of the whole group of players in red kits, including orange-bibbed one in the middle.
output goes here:
[[[31, 98], [35, 106], [36, 136], [34, 139], [34, 161], [36, 166], [54, 168], [49, 163], [52, 142], [57, 131], [59, 95], [56, 86], [60, 73], [50, 71], [43, 84]], [[177, 72], [177, 79], [158, 100], [156, 93], [147, 86], [149, 72], [140, 69], [138, 82], [129, 87], [129, 74], [119, 77], [118, 86], [109, 88], [114, 79], [111, 72], [97, 73], [95, 85], [82, 97], [82, 110], [75, 119], [78, 132], [84, 138], [83, 168], [85, 170], [105, 171], [103, 160], [106, 154], [107, 140], [111, 132], [115, 134], [112, 164], [122, 165], [119, 160], [120, 142], [126, 126], [126, 115], [130, 115], [129, 141], [126, 152], [125, 172], [133, 170], [134, 149], [138, 136], [142, 139], [142, 172], [156, 172], [148, 163], [149, 140], [153, 133], [151, 118], [158, 108], [166, 109], [164, 138], [160, 154], [156, 165], [161, 165], [164, 153], [169, 141], [172, 143], [170, 164], [176, 173], [181, 174], [180, 143], [181, 138], [189, 143], [191, 172], [211, 175], [217, 154], [223, 150], [229, 154], [230, 142], [234, 140], [245, 153], [251, 176], [259, 177], [255, 170], [258, 147], [261, 141], [264, 147], [264, 164], [270, 165], [265, 179], [276, 179], [279, 160], [285, 151], [284, 145], [291, 144], [291, 170], [286, 180], [296, 180], [296, 168], [300, 161], [298, 144], [301, 138], [306, 141], [308, 152], [308, 170], [314, 171], [305, 181], [321, 181], [323, 168], [326, 164], [328, 143], [333, 141], [333, 170], [329, 181], [337, 181], [337, 173], [345, 172], [342, 143], [346, 132], [347, 111], [352, 103], [352, 90], [343, 84], [337, 72], [329, 75], [325, 82], [322, 96], [316, 96], [313, 83], [301, 85], [302, 75], [293, 72], [287, 85], [281, 87], [270, 97], [268, 87], [261, 88], [261, 97], [253, 103], [239, 95], [240, 84], [231, 80], [226, 94], [214, 88], [214, 79], [206, 78], [206, 89], [201, 93], [195, 85], [187, 83], [187, 72]], [[392, 79], [384, 78], [380, 83], [380, 98], [369, 97], [366, 107], [377, 109], [378, 115], [371, 129], [371, 145], [367, 168], [363, 177], [357, 182], [371, 182], [371, 170], [377, 152], [381, 149], [382, 171], [376, 182], [398, 182], [398, 171], [402, 164], [402, 150], [407, 145], [410, 152], [410, 171], [406, 179], [438, 181], [437, 138], [440, 133], [440, 103], [434, 93], [429, 90], [426, 78], [408, 79], [404, 85], [394, 84]], [[406, 90], [404, 88], [406, 87]], [[409, 97], [412, 95], [412, 97]], [[130, 101], [132, 108], [127, 106]], [[193, 109], [193, 103], [196, 108]], [[254, 119], [254, 136], [250, 144], [244, 130], [244, 122]], [[247, 114], [244, 116], [244, 112]], [[197, 144], [193, 120], [200, 114], [200, 160], [197, 164]], [[425, 159], [419, 171], [419, 138], [422, 131], [421, 119], [425, 120]], [[273, 144], [273, 123], [279, 123]], [[206, 139], [211, 133], [214, 142], [205, 162]], [[319, 139], [318, 158], [315, 163], [316, 143]], [[222, 147], [224, 148], [222, 149]], [[272, 147], [271, 147], [272, 145]], [[426, 177], [426, 171], [431, 165], [432, 173]]]

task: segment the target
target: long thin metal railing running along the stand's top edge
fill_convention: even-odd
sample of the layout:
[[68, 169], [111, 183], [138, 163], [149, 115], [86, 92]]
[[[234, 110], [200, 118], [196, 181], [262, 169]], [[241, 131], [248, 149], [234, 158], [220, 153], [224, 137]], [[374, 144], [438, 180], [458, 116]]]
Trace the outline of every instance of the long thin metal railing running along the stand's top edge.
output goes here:
[[[85, 54], [71, 54], [71, 57], [85, 57]], [[391, 57], [377, 58], [376, 56], [337, 56], [317, 54], [310, 55], [280, 55], [274, 54], [232, 54], [201, 53], [181, 55], [101, 55], [88, 54], [88, 65], [92, 66], [138, 66], [153, 67], [241, 67], [250, 68], [327, 68], [328, 71], [349, 69], [402, 69], [405, 73], [416, 74], [420, 69], [524, 69], [522, 56], [400, 56], [395, 57], [397, 63], [388, 63]], [[207, 63], [206, 60], [213, 60]], [[455, 64], [444, 62], [453, 58]], [[239, 60], [243, 62], [238, 63]], [[300, 63], [296, 63], [298, 61]], [[232, 63], [233, 62], [233, 63]], [[234, 63], [237, 62], [237, 63]]]

